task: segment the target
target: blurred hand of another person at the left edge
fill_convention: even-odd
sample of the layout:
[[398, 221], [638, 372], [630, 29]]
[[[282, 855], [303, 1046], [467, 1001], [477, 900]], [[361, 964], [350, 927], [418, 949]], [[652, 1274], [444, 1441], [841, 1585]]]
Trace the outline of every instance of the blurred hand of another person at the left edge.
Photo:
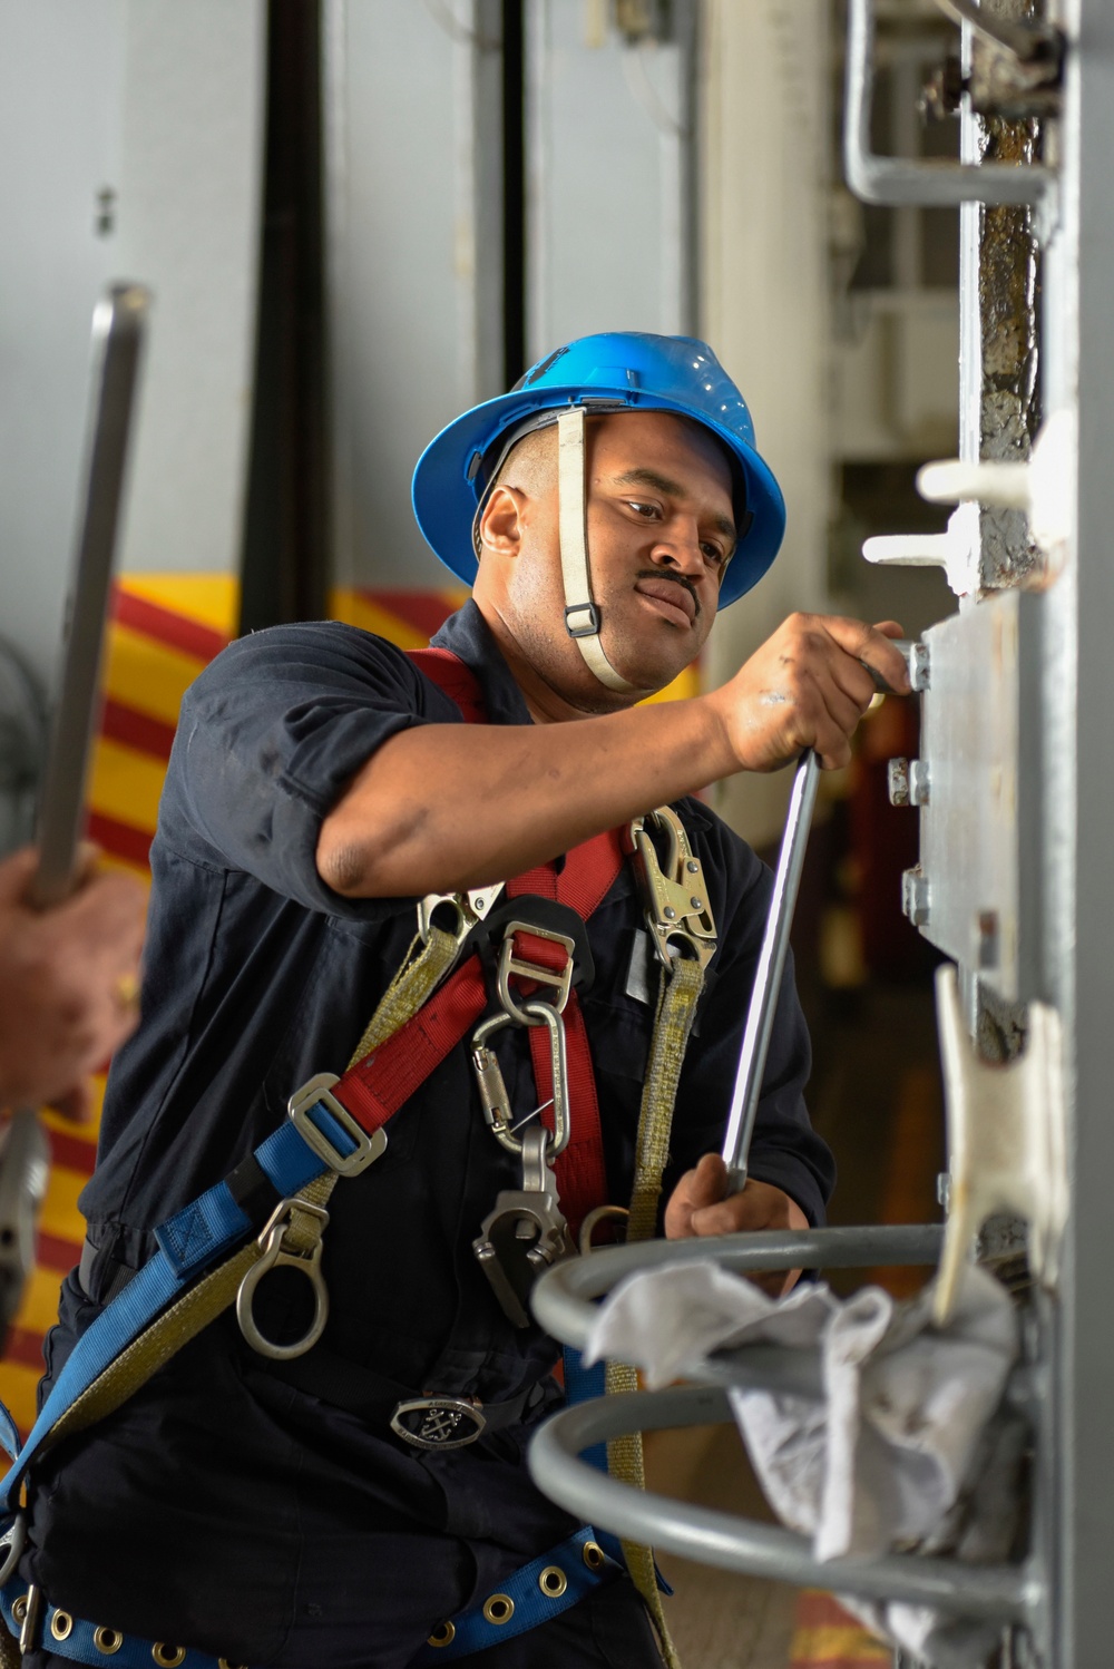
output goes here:
[[85, 1078], [135, 1030], [147, 900], [90, 871], [55, 910], [27, 903], [32, 848], [0, 863], [0, 1105], [88, 1107]]

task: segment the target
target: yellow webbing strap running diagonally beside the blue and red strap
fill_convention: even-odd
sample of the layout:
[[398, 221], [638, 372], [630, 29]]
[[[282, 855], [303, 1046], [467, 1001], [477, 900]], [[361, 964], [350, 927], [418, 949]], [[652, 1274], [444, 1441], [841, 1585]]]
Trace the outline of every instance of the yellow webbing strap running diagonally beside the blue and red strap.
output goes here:
[[[407, 960], [387, 986], [372, 1020], [350, 1060], [350, 1066], [364, 1060], [374, 1048], [385, 1043], [399, 1031], [405, 1021], [427, 1001], [437, 983], [445, 976], [457, 958], [459, 943], [452, 933], [442, 928], [430, 928], [429, 941], [420, 955], [414, 956], [417, 940], [407, 953]], [[414, 960], [410, 960], [414, 958]], [[324, 1207], [337, 1182], [335, 1172], [317, 1177], [300, 1193], [307, 1205]], [[309, 1257], [320, 1240], [324, 1222], [320, 1217], [290, 1207], [290, 1220], [284, 1233], [284, 1248]], [[190, 1287], [168, 1310], [163, 1310], [150, 1327], [133, 1339], [120, 1355], [108, 1364], [92, 1385], [88, 1385], [75, 1402], [55, 1422], [43, 1439], [43, 1449], [52, 1447], [73, 1432], [85, 1430], [103, 1420], [107, 1414], [120, 1409], [163, 1362], [177, 1355], [182, 1345], [195, 1339], [203, 1327], [235, 1303], [240, 1282], [265, 1253], [260, 1242], [250, 1240], [240, 1247], [225, 1263], [203, 1275], [195, 1287]], [[0, 1639], [0, 1651], [3, 1641]], [[0, 1662], [0, 1669], [3, 1664]]]

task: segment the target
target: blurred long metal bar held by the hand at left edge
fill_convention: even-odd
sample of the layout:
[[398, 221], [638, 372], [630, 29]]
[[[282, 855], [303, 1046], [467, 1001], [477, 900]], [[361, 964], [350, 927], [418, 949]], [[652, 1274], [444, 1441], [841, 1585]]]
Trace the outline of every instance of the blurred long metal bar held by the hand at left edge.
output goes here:
[[[93, 387], [78, 539], [38, 799], [38, 868], [28, 891], [28, 903], [38, 910], [60, 905], [78, 881], [100, 654], [148, 307], [150, 295], [142, 285], [115, 284], [93, 312]], [[0, 1137], [0, 1350], [35, 1262], [35, 1222], [48, 1167], [50, 1147], [35, 1108], [17, 1108]]]

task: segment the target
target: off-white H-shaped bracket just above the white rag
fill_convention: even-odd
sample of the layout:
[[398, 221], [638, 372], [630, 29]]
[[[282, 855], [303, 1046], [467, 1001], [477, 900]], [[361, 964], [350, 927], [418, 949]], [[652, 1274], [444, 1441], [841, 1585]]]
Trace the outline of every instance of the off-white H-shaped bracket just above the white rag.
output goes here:
[[979, 1060], [959, 1003], [956, 968], [936, 976], [947, 1150], [949, 1215], [936, 1287], [936, 1317], [952, 1312], [959, 1273], [982, 1223], [997, 1212], [1029, 1223], [1029, 1265], [1056, 1285], [1067, 1222], [1067, 1132], [1061, 1023], [1046, 1003], [1029, 1005], [1026, 1053], [1009, 1065]]

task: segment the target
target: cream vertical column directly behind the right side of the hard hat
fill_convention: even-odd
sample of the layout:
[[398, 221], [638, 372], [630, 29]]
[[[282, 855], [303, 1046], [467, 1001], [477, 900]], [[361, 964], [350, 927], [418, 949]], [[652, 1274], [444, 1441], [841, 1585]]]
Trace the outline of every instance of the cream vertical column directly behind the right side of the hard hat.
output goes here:
[[[754, 414], [789, 507], [770, 572], [722, 614], [705, 683], [729, 678], [794, 609], [825, 604], [829, 517], [825, 0], [705, 0], [700, 65], [702, 334]], [[777, 838], [789, 773], [735, 776], [715, 808]]]

